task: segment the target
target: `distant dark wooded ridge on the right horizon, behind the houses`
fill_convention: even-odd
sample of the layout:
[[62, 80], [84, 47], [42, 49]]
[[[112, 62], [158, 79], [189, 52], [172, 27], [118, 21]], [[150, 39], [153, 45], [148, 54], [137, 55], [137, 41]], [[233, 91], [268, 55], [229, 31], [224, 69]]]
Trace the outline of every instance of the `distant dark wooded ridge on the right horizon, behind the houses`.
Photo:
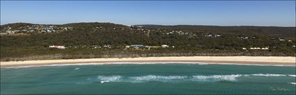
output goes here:
[[279, 26], [196, 26], [196, 25], [177, 25], [177, 26], [161, 26], [161, 25], [137, 25], [145, 28], [161, 28], [169, 30], [186, 30], [186, 31], [210, 31], [212, 33], [231, 33], [231, 34], [256, 34], [265, 36], [285, 37], [295, 40], [295, 27], [279, 27]]

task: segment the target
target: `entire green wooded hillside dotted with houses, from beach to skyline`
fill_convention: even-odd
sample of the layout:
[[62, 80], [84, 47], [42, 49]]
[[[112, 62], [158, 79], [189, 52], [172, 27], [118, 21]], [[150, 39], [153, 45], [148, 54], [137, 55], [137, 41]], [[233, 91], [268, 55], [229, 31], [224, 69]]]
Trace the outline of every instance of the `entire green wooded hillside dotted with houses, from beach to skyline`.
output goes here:
[[[52, 45], [64, 46], [65, 49]], [[124, 26], [111, 23], [1, 26], [1, 61], [180, 55], [295, 56], [295, 27]]]

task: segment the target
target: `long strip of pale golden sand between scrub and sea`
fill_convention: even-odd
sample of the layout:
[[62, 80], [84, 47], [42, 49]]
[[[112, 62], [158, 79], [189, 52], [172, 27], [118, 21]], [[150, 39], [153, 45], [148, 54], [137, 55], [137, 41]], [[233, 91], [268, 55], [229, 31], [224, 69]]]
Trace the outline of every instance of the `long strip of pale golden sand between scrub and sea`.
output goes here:
[[207, 63], [207, 64], [266, 64], [295, 66], [295, 57], [276, 56], [186, 56], [186, 57], [149, 57], [149, 58], [92, 58], [75, 60], [29, 60], [1, 62], [1, 67], [31, 66], [44, 64], [149, 64], [153, 62]]

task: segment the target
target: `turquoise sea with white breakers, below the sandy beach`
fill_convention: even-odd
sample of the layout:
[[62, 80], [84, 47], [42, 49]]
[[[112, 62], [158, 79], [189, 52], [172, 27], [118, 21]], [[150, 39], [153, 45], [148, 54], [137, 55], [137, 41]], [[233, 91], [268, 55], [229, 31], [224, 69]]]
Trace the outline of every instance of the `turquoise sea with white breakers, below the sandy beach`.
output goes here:
[[104, 64], [1, 68], [1, 94], [295, 94], [295, 67]]

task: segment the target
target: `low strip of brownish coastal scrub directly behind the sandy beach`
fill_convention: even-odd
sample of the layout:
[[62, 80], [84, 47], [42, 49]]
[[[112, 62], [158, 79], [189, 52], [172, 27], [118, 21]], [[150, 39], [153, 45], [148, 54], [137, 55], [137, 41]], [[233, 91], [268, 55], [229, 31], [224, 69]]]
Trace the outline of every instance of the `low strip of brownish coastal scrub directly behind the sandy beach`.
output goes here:
[[29, 55], [19, 55], [18, 57], [3, 57], [1, 61], [24, 61], [24, 60], [61, 60], [79, 58], [139, 58], [139, 57], [162, 57], [162, 56], [231, 56], [231, 55], [251, 55], [251, 56], [287, 56], [293, 53], [271, 53], [268, 51], [257, 52], [237, 52], [237, 51], [216, 51], [213, 52], [192, 52], [192, 51], [74, 51], [71, 53], [31, 53]]

